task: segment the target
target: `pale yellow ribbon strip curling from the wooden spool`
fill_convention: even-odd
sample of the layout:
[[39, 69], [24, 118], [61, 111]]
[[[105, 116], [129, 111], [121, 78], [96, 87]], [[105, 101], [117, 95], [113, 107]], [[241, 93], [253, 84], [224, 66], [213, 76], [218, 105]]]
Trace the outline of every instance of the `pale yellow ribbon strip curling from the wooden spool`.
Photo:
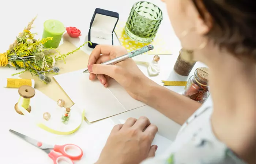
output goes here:
[[[27, 110], [25, 108], [23, 108], [22, 106], [19, 106], [19, 109], [24, 114], [24, 116], [29, 116], [30, 113], [27, 112]], [[84, 119], [84, 114], [85, 114], [85, 111], [83, 110], [81, 124], [79, 124], [79, 126], [77, 128], [75, 128], [74, 130], [71, 130], [69, 132], [61, 132], [61, 131], [58, 131], [58, 130], [54, 130], [54, 129], [49, 128], [48, 126], [46, 126], [45, 124], [42, 124], [42, 123], [37, 123], [37, 126], [39, 128], [42, 128], [42, 129], [46, 130], [47, 132], [50, 132], [50, 133], [53, 133], [53, 134], [59, 134], [59, 135], [72, 134], [72, 133], [76, 132], [76, 130], [78, 130], [80, 128], [80, 126], [82, 125], [83, 119]]]

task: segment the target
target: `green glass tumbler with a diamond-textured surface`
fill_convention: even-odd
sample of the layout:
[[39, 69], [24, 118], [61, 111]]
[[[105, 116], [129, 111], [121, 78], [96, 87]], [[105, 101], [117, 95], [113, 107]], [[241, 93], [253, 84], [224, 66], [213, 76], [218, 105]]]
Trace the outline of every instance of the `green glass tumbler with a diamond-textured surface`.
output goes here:
[[159, 7], [140, 1], [133, 5], [124, 29], [132, 40], [150, 43], [155, 38], [162, 20], [163, 13]]

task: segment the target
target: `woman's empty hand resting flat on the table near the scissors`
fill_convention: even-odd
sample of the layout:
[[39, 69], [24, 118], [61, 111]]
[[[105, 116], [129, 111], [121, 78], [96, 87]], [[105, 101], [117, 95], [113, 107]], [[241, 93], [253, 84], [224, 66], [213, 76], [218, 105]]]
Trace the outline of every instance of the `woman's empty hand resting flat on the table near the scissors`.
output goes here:
[[155, 156], [157, 145], [152, 145], [157, 126], [148, 118], [128, 118], [114, 126], [96, 164], [139, 164]]

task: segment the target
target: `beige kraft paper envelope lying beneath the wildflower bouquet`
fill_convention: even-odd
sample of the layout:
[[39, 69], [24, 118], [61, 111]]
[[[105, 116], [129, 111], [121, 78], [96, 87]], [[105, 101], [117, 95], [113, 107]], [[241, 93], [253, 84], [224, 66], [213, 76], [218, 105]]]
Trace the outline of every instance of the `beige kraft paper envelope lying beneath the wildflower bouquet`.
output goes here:
[[[64, 41], [57, 49], [61, 52], [61, 54], [67, 54], [75, 50], [77, 47], [67, 41]], [[53, 55], [54, 56], [54, 55]], [[56, 61], [55, 66], [60, 68], [59, 74], [72, 72], [75, 70], [84, 69], [87, 67], [89, 55], [87, 55], [84, 51], [78, 50], [65, 58], [66, 63], [63, 60]], [[74, 102], [68, 97], [68, 95], [63, 91], [63, 89], [58, 85], [58, 83], [53, 78], [54, 74], [49, 74], [49, 77], [52, 79], [52, 82], [49, 84], [45, 84], [40, 81], [37, 76], [32, 76], [29, 71], [19, 75], [20, 78], [23, 79], [34, 79], [35, 80], [35, 88], [53, 99], [54, 101], [58, 101], [58, 99], [64, 99], [65, 107], [70, 108], [74, 105]], [[71, 77], [67, 77], [69, 79]], [[69, 85], [72, 88], [72, 84]]]

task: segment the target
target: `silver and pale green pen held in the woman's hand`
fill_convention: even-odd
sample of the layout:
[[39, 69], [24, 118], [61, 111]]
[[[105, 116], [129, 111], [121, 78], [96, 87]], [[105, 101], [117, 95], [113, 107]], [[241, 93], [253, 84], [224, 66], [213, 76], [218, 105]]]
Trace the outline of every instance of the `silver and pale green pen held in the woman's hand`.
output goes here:
[[[131, 51], [131, 52], [129, 52], [128, 54], [119, 56], [119, 57], [114, 58], [114, 59], [112, 59], [112, 60], [103, 62], [103, 63], [101, 63], [101, 64], [102, 64], [102, 65], [113, 65], [113, 64], [118, 63], [118, 62], [121, 62], [121, 61], [123, 61], [123, 60], [125, 60], [125, 59], [132, 58], [132, 57], [134, 57], [134, 56], [143, 54], [143, 53], [148, 52], [148, 51], [151, 51], [151, 50], [153, 50], [153, 49], [154, 49], [154, 46], [151, 45], [151, 44], [148, 44], [148, 46], [144, 46], [144, 47], [139, 48], [139, 49], [137, 49], [137, 50], [135, 50], [135, 51]], [[83, 73], [88, 73], [88, 72], [89, 72], [88, 69], [85, 70], [85, 71], [83, 71]]]

